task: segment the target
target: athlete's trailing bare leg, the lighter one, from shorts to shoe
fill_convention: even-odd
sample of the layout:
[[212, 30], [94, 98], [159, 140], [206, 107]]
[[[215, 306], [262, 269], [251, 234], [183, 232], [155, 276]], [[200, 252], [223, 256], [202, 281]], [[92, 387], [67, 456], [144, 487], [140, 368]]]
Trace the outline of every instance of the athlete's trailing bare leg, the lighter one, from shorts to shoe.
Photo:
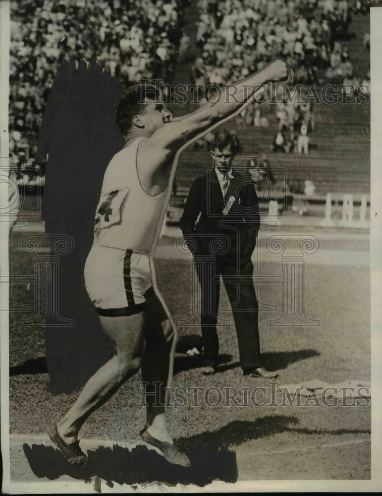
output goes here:
[[115, 355], [88, 380], [74, 405], [58, 422], [58, 434], [69, 444], [76, 439], [89, 415], [141, 366], [144, 313], [120, 317], [100, 316], [100, 320]]

